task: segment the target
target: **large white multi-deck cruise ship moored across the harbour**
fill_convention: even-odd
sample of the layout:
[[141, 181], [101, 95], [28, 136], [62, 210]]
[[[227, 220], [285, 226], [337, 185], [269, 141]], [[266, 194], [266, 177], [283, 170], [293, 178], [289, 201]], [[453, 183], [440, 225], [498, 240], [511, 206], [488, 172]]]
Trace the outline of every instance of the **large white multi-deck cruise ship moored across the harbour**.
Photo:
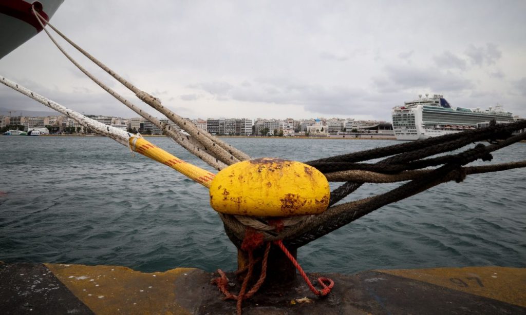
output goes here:
[[393, 130], [398, 140], [419, 140], [477, 128], [478, 123], [513, 121], [513, 114], [498, 104], [488, 110], [451, 107], [443, 95], [404, 102], [392, 109]]

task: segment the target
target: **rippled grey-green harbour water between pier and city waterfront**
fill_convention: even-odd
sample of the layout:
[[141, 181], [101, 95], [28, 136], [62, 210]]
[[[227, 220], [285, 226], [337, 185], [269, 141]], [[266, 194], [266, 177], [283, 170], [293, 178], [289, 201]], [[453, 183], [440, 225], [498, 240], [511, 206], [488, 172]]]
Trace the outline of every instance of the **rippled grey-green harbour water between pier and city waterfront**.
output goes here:
[[[206, 167], [166, 138], [151, 142]], [[225, 139], [252, 157], [308, 161], [389, 140]], [[526, 143], [491, 163], [524, 160]], [[526, 267], [526, 169], [471, 175], [382, 207], [298, 251], [307, 271]], [[346, 200], [385, 192], [364, 185]], [[236, 268], [206, 188], [103, 137], [0, 137], [0, 260]]]

